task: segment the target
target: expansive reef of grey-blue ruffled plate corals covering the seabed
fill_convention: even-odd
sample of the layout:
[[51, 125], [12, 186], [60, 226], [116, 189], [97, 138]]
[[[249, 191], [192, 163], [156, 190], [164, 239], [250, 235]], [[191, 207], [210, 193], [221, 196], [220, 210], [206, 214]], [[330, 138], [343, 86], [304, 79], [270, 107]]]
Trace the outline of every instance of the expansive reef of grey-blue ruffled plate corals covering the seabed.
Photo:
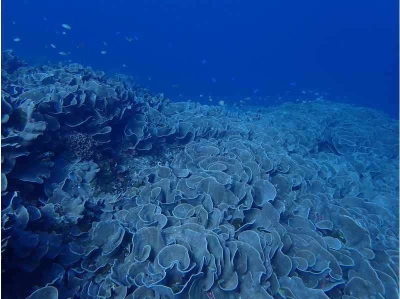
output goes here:
[[1, 66], [4, 298], [398, 298], [397, 120]]

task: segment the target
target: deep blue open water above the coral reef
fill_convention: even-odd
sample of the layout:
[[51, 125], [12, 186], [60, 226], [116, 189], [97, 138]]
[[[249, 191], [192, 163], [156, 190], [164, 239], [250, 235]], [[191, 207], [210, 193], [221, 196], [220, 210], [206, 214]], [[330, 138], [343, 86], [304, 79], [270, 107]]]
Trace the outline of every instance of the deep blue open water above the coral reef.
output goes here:
[[172, 100], [269, 106], [323, 94], [398, 118], [398, 1], [1, 4], [2, 49], [30, 63], [131, 74]]

